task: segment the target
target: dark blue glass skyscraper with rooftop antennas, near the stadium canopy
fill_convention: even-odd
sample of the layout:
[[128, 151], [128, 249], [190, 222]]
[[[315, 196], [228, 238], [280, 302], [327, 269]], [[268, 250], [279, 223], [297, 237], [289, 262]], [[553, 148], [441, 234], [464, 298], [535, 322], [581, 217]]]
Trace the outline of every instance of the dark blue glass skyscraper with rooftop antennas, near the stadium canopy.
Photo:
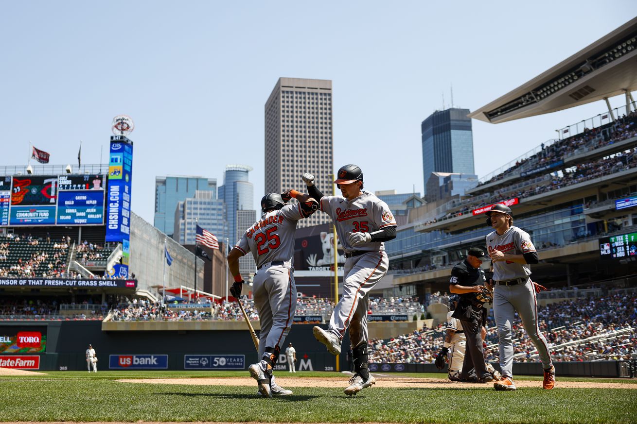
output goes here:
[[468, 109], [435, 111], [422, 121], [425, 194], [431, 173], [473, 174], [473, 136]]

